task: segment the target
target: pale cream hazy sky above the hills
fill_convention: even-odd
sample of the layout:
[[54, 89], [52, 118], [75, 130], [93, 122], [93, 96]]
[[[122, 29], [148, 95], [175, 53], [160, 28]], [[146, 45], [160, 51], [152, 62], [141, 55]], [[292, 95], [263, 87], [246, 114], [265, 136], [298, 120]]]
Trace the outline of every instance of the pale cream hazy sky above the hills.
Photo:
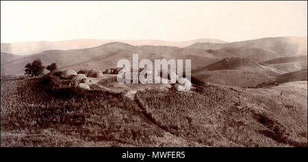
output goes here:
[[307, 1], [1, 1], [1, 42], [307, 36]]

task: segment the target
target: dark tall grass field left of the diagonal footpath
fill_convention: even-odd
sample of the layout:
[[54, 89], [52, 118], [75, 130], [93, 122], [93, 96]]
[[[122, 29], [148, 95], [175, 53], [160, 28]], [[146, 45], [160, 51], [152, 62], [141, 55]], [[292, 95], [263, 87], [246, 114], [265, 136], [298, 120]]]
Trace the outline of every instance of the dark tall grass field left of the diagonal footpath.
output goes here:
[[[144, 122], [137, 105], [122, 94], [43, 90], [41, 80], [1, 79], [1, 146], [55, 146], [49, 138], [57, 134], [57, 146], [99, 141], [143, 146], [162, 137], [162, 131]], [[22, 137], [12, 139], [12, 133]]]

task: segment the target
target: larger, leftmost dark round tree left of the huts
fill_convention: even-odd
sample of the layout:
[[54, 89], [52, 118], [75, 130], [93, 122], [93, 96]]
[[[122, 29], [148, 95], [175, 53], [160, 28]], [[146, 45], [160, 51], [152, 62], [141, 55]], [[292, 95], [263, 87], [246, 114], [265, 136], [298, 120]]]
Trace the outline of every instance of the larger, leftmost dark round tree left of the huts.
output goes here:
[[42, 62], [40, 59], [34, 60], [32, 64], [28, 63], [25, 66], [25, 75], [31, 76], [31, 77], [36, 77], [44, 71], [44, 66], [42, 66]]

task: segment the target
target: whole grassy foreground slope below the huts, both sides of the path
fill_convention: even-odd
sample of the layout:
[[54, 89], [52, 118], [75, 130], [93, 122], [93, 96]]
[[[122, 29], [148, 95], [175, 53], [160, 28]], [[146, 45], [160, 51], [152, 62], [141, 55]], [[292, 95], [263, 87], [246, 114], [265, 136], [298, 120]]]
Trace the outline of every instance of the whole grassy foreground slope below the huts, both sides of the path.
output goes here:
[[[198, 85], [138, 91], [131, 100], [41, 83], [1, 78], [1, 146], [307, 147], [307, 99], [296, 103], [285, 89]], [[307, 81], [300, 92], [307, 97]]]

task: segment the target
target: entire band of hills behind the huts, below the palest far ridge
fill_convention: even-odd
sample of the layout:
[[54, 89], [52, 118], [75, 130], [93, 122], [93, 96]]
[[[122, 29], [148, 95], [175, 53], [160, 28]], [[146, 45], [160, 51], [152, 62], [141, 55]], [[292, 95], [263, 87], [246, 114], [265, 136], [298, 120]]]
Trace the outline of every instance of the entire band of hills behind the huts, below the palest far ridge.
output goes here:
[[[196, 44], [201, 48], [196, 48]], [[41, 59], [45, 66], [55, 62], [59, 70], [105, 70], [116, 67], [120, 59], [128, 59], [132, 64], [133, 53], [139, 54], [139, 60], [150, 59], [152, 62], [154, 59], [191, 59], [192, 75], [198, 79], [244, 87], [274, 81], [277, 75], [307, 68], [307, 38], [262, 38], [244, 42], [196, 44], [180, 48], [107, 42], [91, 48], [52, 49], [16, 57], [1, 51], [1, 76], [23, 75], [25, 64], [34, 59]], [[204, 44], [212, 47], [204, 49]], [[229, 59], [231, 57], [238, 59]]]

